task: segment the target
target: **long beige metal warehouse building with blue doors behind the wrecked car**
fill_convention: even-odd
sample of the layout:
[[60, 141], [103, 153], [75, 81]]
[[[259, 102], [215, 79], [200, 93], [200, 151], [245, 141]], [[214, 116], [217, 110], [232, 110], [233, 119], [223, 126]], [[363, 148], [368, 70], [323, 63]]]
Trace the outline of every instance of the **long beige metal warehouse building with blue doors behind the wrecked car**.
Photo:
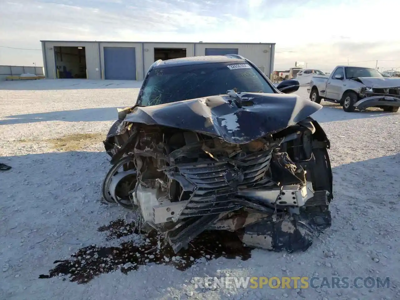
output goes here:
[[274, 43], [41, 41], [46, 78], [143, 80], [158, 59], [239, 54], [270, 76]]

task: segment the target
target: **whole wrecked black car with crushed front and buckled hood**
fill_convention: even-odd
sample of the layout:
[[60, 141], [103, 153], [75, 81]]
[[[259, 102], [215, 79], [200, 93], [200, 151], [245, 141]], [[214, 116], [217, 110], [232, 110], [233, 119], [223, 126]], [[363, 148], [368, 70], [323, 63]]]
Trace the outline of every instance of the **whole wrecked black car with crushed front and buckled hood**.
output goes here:
[[255, 248], [306, 250], [330, 227], [332, 170], [320, 104], [275, 87], [239, 55], [158, 60], [104, 146], [107, 202], [134, 209], [175, 253], [206, 230]]

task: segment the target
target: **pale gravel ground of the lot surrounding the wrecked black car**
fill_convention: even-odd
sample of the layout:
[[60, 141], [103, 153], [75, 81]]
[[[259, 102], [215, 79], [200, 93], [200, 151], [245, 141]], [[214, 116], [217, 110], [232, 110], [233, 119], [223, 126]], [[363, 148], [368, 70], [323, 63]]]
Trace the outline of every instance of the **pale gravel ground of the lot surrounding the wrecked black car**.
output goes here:
[[[49, 274], [54, 261], [68, 259], [83, 247], [88, 248], [81, 252], [93, 250], [87, 254], [91, 261], [99, 255], [120, 255], [118, 248], [104, 254], [101, 247], [118, 246], [122, 241], [134, 240], [126, 251], [138, 250], [140, 237], [131, 234], [129, 224], [118, 225], [126, 229], [121, 240], [113, 238], [112, 230], [98, 228], [133, 218], [124, 208], [99, 202], [100, 186], [110, 167], [101, 140], [116, 119], [116, 107], [132, 105], [139, 86], [140, 82], [91, 80], [0, 83], [0, 162], [12, 166], [0, 172], [0, 299], [400, 297], [400, 114], [346, 113], [327, 102], [315, 118], [332, 142], [333, 224], [307, 252], [253, 250], [242, 253], [251, 256], [247, 260], [223, 255], [200, 258], [204, 253], [186, 270], [171, 258], [173, 264], [153, 262], [127, 274], [117, 268], [86, 284], [70, 282], [68, 276], [39, 278]], [[304, 87], [297, 94], [308, 96]], [[56, 139], [60, 136], [66, 137]], [[80, 261], [82, 268], [83, 264]], [[201, 290], [190, 283], [194, 276], [221, 272], [225, 276], [325, 276], [329, 280], [347, 276], [350, 283], [358, 276], [389, 276], [390, 288]]]

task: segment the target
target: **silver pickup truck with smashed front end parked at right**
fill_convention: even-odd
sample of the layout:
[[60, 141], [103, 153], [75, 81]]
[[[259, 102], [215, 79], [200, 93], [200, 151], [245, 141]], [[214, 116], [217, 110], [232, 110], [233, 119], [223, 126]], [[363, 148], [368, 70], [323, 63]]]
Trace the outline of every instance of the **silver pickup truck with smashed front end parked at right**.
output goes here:
[[368, 107], [397, 112], [400, 106], [400, 78], [384, 77], [372, 68], [337, 66], [329, 78], [314, 76], [307, 91], [311, 101], [340, 103], [345, 112]]

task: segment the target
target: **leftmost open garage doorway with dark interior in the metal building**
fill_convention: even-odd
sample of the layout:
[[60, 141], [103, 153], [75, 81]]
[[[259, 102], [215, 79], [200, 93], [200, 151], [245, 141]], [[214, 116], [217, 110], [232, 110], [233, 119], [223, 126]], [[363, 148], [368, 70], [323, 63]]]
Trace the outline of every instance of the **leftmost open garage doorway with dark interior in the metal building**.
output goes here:
[[54, 47], [57, 78], [87, 78], [85, 47]]

